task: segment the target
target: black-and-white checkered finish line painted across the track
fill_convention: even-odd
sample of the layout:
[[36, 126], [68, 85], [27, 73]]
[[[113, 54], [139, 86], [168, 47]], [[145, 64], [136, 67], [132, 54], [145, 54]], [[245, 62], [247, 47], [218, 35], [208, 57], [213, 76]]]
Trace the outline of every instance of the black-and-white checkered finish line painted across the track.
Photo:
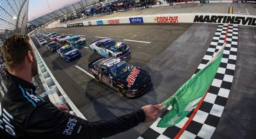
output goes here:
[[[227, 32], [227, 25], [219, 25], [213, 37], [211, 45], [207, 49], [204, 58], [197, 67], [195, 73], [201, 70], [213, 55], [222, 47]], [[222, 60], [213, 79], [213, 83], [195, 117], [182, 133], [180, 139], [210, 139], [215, 131], [220, 117], [227, 103], [233, 75], [236, 67], [238, 46], [238, 26], [229, 25], [227, 44], [224, 48]], [[172, 139], [188, 121], [192, 110], [181, 122], [170, 128], [156, 127], [160, 119], [171, 109], [169, 107], [138, 139]]]

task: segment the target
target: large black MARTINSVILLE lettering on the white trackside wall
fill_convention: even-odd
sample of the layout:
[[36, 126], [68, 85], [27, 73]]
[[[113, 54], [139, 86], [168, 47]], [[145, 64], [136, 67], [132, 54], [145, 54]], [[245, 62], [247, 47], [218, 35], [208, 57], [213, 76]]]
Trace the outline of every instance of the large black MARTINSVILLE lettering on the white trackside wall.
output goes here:
[[194, 22], [256, 26], [256, 18], [245, 16], [195, 16]]

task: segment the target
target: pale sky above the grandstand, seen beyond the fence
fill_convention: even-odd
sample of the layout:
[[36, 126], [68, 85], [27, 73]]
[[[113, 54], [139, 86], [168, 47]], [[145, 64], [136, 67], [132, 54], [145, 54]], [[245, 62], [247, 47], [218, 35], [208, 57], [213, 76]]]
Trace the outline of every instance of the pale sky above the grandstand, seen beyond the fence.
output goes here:
[[[61, 9], [63, 6], [78, 2], [81, 0], [48, 0], [52, 11]], [[49, 6], [46, 0], [29, 0], [28, 19], [33, 20], [35, 17], [43, 16], [50, 13]]]

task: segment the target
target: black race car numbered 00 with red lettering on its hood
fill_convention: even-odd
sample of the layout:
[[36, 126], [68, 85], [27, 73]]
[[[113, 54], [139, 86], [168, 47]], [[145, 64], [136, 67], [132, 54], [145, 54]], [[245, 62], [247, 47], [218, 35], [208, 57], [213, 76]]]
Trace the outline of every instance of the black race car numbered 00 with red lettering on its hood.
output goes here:
[[150, 75], [145, 70], [119, 58], [98, 58], [88, 64], [88, 71], [97, 81], [127, 98], [143, 94], [152, 86]]

